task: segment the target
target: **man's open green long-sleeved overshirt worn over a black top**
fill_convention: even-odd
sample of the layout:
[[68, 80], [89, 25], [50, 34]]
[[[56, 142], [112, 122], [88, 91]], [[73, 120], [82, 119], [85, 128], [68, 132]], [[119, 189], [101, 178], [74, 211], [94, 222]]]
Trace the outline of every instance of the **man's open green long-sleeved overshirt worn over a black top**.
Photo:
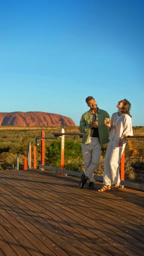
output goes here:
[[[89, 144], [89, 138], [90, 138], [90, 132], [91, 129], [89, 128], [89, 125], [92, 123], [92, 112], [91, 110], [88, 110], [85, 112], [81, 119], [80, 119], [80, 132], [83, 132], [83, 138], [82, 138], [82, 143], [84, 144]], [[99, 133], [99, 139], [100, 139], [100, 144], [106, 144], [109, 142], [108, 137], [109, 137], [109, 131], [108, 127], [104, 124], [104, 119], [106, 117], [110, 117], [108, 112], [105, 110], [99, 109], [98, 112], [96, 113], [96, 117], [98, 120], [98, 133]]]

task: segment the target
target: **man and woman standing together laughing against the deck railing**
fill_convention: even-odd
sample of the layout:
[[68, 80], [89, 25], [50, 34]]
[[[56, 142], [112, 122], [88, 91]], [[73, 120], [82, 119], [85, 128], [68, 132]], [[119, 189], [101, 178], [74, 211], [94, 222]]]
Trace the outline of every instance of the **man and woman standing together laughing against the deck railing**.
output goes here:
[[114, 189], [118, 189], [120, 158], [126, 146], [127, 136], [133, 135], [130, 102], [126, 99], [118, 102], [118, 112], [112, 114], [111, 122], [105, 120], [110, 118], [109, 114], [98, 108], [92, 96], [86, 98], [86, 103], [90, 110], [84, 113], [80, 120], [80, 132], [84, 133], [82, 156], [86, 173], [82, 174], [79, 187], [82, 188], [88, 180], [88, 189], [94, 188], [94, 172], [100, 162], [101, 145], [108, 143], [104, 160], [103, 187], [98, 192], [109, 190], [112, 185]]

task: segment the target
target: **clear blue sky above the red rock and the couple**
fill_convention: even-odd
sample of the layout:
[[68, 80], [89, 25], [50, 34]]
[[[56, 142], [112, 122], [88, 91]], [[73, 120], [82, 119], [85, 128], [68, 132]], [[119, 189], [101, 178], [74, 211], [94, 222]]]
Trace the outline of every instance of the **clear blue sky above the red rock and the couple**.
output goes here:
[[143, 0], [1, 0], [0, 112], [43, 111], [79, 125], [87, 96], [144, 126]]

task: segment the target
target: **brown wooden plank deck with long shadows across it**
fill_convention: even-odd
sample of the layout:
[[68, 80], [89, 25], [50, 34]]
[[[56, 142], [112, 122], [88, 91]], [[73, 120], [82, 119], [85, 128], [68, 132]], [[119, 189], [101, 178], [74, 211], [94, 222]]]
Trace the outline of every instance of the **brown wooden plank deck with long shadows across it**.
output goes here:
[[0, 171], [0, 256], [144, 255], [144, 192], [98, 193], [79, 178]]

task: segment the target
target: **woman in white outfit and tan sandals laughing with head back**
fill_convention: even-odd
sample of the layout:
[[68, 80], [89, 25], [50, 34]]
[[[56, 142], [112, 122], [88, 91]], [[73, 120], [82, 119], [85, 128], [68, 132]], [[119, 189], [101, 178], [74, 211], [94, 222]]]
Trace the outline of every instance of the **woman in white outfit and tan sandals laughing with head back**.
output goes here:
[[112, 114], [111, 123], [104, 122], [110, 127], [111, 132], [104, 160], [104, 186], [98, 192], [109, 190], [111, 185], [114, 185], [114, 190], [120, 187], [118, 166], [128, 140], [127, 137], [133, 135], [130, 106], [128, 100], [120, 100], [117, 105], [118, 112]]

